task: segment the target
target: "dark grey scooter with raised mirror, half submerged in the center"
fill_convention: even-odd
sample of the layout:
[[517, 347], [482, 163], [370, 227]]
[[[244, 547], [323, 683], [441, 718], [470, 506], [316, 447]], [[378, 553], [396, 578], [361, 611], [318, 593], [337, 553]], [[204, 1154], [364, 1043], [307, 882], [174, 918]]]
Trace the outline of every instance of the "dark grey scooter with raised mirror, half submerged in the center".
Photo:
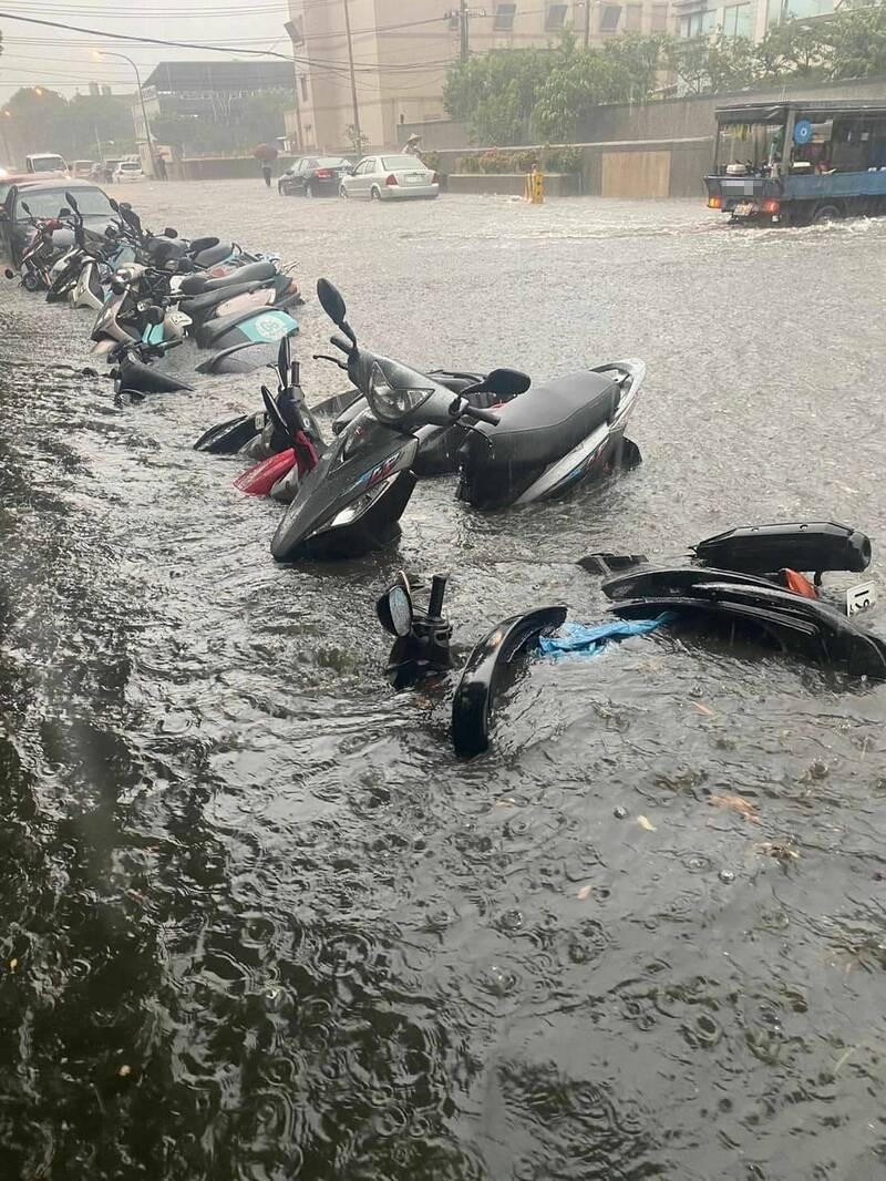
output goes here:
[[[599, 365], [528, 390], [525, 374], [494, 370], [480, 386], [454, 394], [429, 374], [359, 347], [340, 293], [325, 279], [317, 293], [344, 333], [332, 344], [347, 358], [326, 359], [347, 372], [369, 411], [347, 424], [299, 490], [271, 543], [275, 557], [353, 556], [396, 536], [415, 487], [422, 428], [470, 428], [458, 450], [457, 495], [478, 508], [560, 496], [626, 454], [639, 455], [624, 431], [643, 361]], [[473, 404], [477, 393], [506, 404], [491, 412]]]

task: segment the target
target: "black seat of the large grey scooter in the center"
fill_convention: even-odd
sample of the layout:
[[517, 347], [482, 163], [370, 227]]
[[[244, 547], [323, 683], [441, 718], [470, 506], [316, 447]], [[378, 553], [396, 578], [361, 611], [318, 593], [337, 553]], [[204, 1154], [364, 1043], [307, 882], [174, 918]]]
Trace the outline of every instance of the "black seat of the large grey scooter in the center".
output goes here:
[[534, 466], [560, 459], [615, 416], [621, 389], [611, 377], [584, 370], [547, 385], [534, 385], [497, 407], [500, 422], [478, 423], [462, 445], [463, 465]]

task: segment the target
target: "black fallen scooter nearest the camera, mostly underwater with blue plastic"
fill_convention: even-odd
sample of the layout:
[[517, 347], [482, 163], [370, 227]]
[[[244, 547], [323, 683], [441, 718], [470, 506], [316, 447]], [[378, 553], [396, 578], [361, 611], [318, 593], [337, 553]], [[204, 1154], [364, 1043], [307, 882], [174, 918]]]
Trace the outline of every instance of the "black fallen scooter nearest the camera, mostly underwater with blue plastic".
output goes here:
[[[848, 588], [840, 611], [820, 600], [800, 573], [815, 572], [820, 581], [823, 570], [866, 569], [871, 542], [864, 534], [830, 522], [778, 523], [731, 529], [691, 548], [698, 565], [653, 567], [641, 554], [597, 553], [581, 559], [586, 570], [605, 576], [601, 589], [613, 602], [615, 621], [563, 627], [562, 605], [500, 620], [458, 673], [451, 729], [456, 753], [471, 757], [488, 748], [495, 699], [527, 667], [522, 658], [595, 654], [612, 642], [663, 627], [714, 624], [730, 640], [762, 641], [852, 677], [886, 680], [886, 640], [852, 621], [875, 601], [873, 585]], [[718, 568], [702, 565], [715, 557]], [[434, 578], [426, 612], [416, 609], [403, 574], [376, 605], [382, 626], [396, 637], [386, 674], [397, 690], [417, 684], [426, 690], [451, 673], [445, 581], [442, 575]]]

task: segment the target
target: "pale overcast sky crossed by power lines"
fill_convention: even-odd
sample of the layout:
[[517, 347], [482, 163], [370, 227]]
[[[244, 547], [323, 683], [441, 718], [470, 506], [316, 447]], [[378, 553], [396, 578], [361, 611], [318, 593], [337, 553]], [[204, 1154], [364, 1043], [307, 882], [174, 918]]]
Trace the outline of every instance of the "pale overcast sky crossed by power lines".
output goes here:
[[[284, 21], [286, 0], [0, 0], [0, 13], [37, 17], [109, 33], [159, 37], [171, 40], [230, 44], [252, 50], [291, 52]], [[158, 61], [223, 60], [226, 54], [162, 45], [112, 41], [84, 33], [46, 28], [0, 15], [4, 52], [0, 56], [0, 105], [19, 86], [50, 86], [71, 96], [89, 90], [90, 81], [110, 85], [115, 93], [135, 90], [132, 67], [120, 60], [96, 60], [93, 48], [119, 50], [132, 58], [144, 80]]]

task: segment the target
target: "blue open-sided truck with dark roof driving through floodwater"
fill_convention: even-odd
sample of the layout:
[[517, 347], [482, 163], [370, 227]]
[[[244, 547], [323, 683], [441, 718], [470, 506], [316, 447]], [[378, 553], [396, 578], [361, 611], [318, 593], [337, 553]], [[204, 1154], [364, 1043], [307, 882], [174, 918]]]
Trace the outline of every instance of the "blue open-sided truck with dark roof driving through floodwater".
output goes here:
[[768, 226], [886, 213], [886, 104], [744, 103], [716, 117], [709, 209]]

